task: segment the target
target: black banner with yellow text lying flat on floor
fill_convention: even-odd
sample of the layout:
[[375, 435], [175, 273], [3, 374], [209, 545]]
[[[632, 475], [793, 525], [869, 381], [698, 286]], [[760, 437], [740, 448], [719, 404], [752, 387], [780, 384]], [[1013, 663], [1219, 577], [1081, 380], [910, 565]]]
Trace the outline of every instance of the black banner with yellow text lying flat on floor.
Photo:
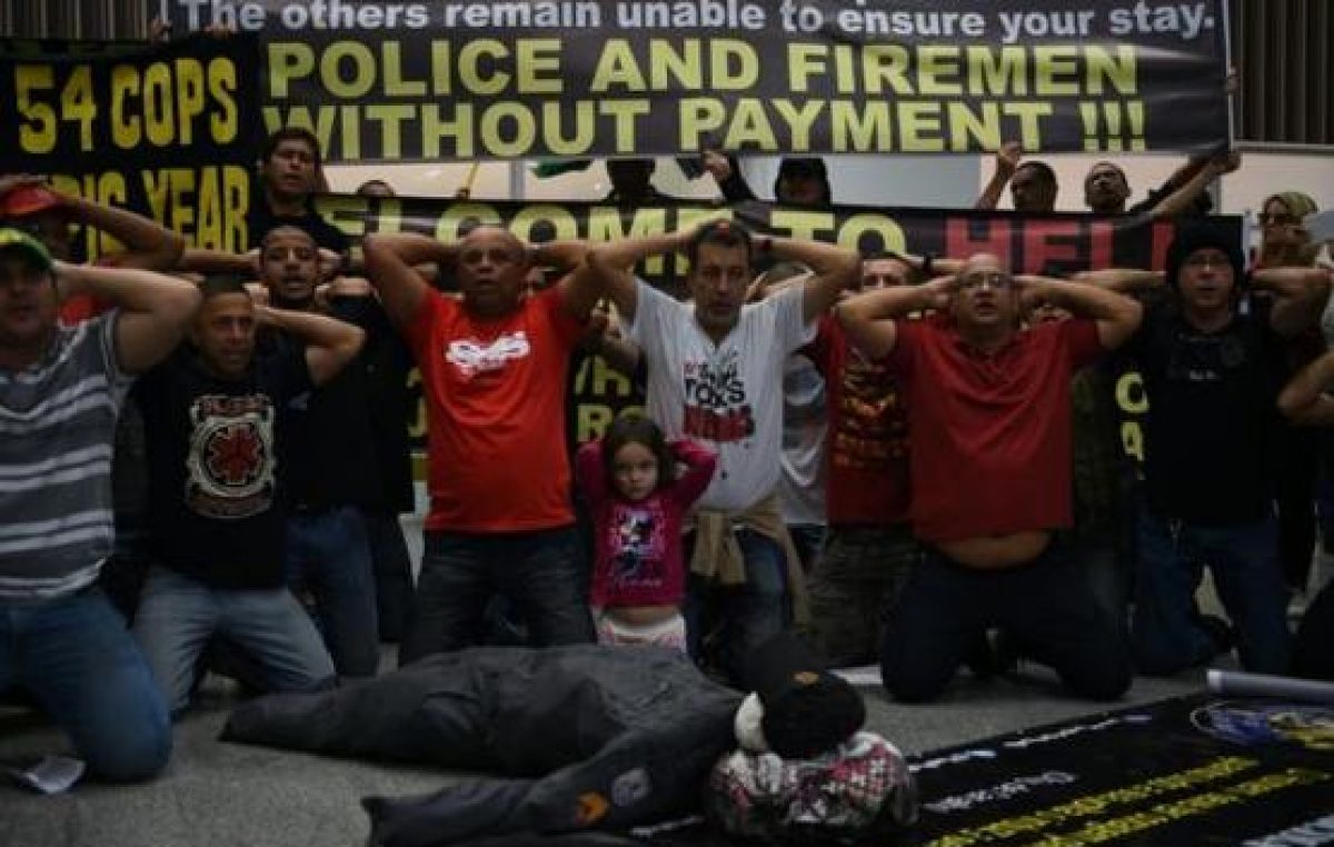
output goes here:
[[1334, 840], [1334, 710], [1181, 698], [916, 756], [904, 843]]

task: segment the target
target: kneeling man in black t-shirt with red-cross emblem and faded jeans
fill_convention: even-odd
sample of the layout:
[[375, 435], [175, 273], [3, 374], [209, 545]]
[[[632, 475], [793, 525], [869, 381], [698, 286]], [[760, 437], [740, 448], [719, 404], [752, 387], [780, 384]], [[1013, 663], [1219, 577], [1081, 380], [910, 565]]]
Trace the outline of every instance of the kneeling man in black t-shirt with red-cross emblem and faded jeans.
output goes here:
[[[191, 343], [139, 383], [148, 444], [148, 542], [153, 567], [135, 638], [172, 711], [184, 710], [200, 651], [213, 634], [257, 666], [267, 690], [334, 675], [309, 618], [284, 583], [283, 408], [331, 379], [362, 344], [350, 324], [257, 307], [241, 281], [211, 277]], [[259, 351], [259, 324], [304, 349]]]

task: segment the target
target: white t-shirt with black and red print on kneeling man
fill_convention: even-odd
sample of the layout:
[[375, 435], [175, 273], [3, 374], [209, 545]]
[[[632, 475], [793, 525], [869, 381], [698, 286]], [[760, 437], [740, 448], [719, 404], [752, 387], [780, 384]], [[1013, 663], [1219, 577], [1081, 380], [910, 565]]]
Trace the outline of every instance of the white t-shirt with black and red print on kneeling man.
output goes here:
[[690, 438], [718, 451], [718, 472], [700, 508], [744, 510], [778, 484], [783, 450], [783, 369], [810, 340], [802, 288], [746, 305], [715, 344], [694, 305], [639, 281], [630, 337], [648, 363], [648, 416], [670, 439]]

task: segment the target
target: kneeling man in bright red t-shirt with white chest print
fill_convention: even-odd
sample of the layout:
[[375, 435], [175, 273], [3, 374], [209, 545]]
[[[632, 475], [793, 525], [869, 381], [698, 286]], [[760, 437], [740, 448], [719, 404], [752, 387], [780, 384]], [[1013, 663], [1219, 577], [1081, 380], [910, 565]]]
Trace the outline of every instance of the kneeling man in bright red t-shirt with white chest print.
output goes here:
[[[487, 600], [514, 602], [539, 646], [594, 640], [580, 592], [566, 371], [600, 288], [587, 273], [527, 293], [536, 264], [572, 267], [582, 244], [526, 247], [498, 227], [443, 244], [372, 235], [366, 263], [407, 339], [427, 399], [426, 554], [400, 663], [478, 640]], [[414, 265], [438, 263], [460, 297]]]

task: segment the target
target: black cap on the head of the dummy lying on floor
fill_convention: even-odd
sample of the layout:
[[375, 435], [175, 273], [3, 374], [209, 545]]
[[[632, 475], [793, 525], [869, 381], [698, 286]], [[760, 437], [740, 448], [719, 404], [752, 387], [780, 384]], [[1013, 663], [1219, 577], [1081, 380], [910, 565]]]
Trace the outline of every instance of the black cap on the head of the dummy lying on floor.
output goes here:
[[750, 655], [746, 682], [764, 707], [764, 740], [784, 759], [831, 751], [866, 723], [856, 688], [824, 670], [815, 651], [791, 632], [775, 635]]

